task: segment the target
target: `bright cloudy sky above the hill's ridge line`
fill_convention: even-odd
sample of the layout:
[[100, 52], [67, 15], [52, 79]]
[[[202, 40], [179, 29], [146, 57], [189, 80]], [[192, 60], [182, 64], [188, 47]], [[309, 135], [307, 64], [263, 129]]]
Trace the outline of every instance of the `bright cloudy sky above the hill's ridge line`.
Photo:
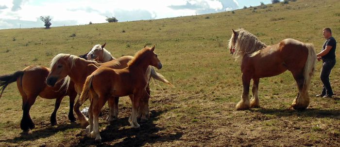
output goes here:
[[271, 0], [0, 0], [0, 29], [51, 27], [202, 15], [257, 6]]

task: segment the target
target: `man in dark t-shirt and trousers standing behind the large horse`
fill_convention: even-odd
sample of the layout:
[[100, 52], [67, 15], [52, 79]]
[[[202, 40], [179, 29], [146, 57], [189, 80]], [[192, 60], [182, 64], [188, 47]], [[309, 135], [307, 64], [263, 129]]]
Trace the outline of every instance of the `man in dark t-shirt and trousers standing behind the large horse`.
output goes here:
[[323, 67], [320, 73], [320, 79], [323, 82], [323, 90], [317, 97], [329, 98], [333, 96], [333, 90], [329, 83], [329, 74], [335, 65], [335, 49], [337, 47], [337, 41], [332, 37], [332, 31], [329, 28], [323, 29], [323, 38], [326, 41], [323, 43], [322, 51], [316, 55], [318, 61], [323, 60]]

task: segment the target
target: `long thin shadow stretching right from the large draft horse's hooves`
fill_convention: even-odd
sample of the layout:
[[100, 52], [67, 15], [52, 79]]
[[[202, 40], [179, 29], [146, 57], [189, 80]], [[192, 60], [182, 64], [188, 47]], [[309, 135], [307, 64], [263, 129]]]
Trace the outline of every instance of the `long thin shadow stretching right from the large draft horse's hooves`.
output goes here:
[[293, 109], [276, 109], [276, 108], [258, 108], [252, 109], [252, 112], [259, 112], [262, 114], [274, 115], [277, 117], [313, 117], [313, 118], [334, 118], [340, 119], [340, 110], [326, 110], [320, 108], [307, 108], [303, 111], [296, 111]]

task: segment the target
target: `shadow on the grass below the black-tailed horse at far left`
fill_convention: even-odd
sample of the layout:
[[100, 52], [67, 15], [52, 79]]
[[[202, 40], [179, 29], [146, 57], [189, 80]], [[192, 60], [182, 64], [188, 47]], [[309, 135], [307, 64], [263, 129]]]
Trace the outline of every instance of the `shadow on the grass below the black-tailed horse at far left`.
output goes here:
[[31, 132], [21, 132], [20, 136], [18, 137], [15, 137], [13, 139], [0, 140], [0, 142], [18, 143], [22, 141], [34, 141], [37, 139], [50, 137], [57, 132], [66, 131], [71, 128], [80, 128], [80, 125], [77, 123], [58, 124], [57, 126], [49, 126], [47, 128], [34, 130]]

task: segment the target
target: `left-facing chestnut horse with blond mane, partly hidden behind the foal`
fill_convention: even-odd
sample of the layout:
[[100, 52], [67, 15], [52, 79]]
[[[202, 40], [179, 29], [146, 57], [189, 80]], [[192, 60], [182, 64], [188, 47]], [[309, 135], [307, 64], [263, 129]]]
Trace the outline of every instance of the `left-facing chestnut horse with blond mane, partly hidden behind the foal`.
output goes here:
[[[79, 58], [74, 55], [69, 54], [58, 54], [51, 60], [51, 72], [49, 73], [48, 77], [46, 78], [46, 83], [49, 86], [54, 86], [57, 81], [62, 80], [65, 77], [69, 77], [74, 82], [75, 90], [78, 94], [81, 94], [86, 77], [94, 72], [98, 67], [109, 67], [114, 69], [123, 69], [127, 67], [127, 63], [133, 59], [132, 56], [123, 56], [118, 59], [105, 62], [105, 63], [97, 63], [96, 61], [85, 60]], [[171, 83], [164, 78], [160, 73], [153, 73], [150, 74], [150, 71], [153, 71], [151, 68], [150, 70], [146, 71], [149, 72], [149, 76], [156, 77], [155, 79], [162, 79], [166, 84], [171, 85]], [[150, 77], [146, 77], [150, 79]], [[69, 80], [65, 80], [67, 82]], [[110, 99], [109, 104], [109, 116], [106, 119], [107, 121], [113, 121], [118, 118], [118, 98]], [[148, 99], [147, 99], [148, 100]], [[146, 100], [145, 100], [146, 101]], [[147, 107], [147, 102], [143, 101], [141, 105], [141, 120], [148, 120], [149, 118], [149, 110]], [[87, 121], [84, 115], [80, 112], [78, 105], [74, 106], [74, 111], [81, 122], [83, 127], [86, 127]]]

